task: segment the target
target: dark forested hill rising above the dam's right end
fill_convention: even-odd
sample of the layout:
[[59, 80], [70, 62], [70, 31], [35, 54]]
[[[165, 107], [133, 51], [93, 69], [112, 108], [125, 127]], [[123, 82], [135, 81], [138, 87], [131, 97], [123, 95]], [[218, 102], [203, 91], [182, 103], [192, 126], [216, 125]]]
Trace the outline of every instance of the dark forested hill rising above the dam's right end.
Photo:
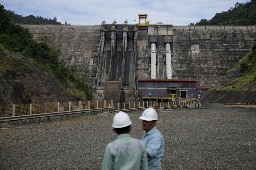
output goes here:
[[[212, 19], [201, 19], [195, 25], [254, 25], [256, 24], [256, 0], [235, 3], [227, 11], [216, 13]], [[190, 23], [194, 25], [194, 23]]]

